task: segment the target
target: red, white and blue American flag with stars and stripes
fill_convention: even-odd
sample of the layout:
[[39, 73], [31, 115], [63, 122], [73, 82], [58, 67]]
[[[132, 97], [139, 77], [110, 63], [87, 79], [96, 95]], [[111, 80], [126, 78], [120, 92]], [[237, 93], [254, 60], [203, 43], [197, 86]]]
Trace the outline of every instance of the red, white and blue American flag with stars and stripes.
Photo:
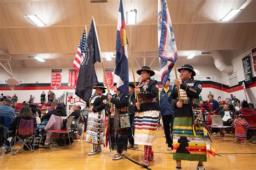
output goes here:
[[75, 56], [75, 60], [73, 61], [73, 65], [72, 65], [73, 68], [75, 68], [77, 70], [77, 72], [79, 72], [81, 61], [83, 61], [82, 57], [84, 56], [85, 42], [86, 42], [86, 32], [84, 30], [83, 35], [82, 35], [82, 37], [80, 39], [80, 42], [79, 42], [79, 46], [77, 48], [77, 53], [76, 53], [76, 56]]

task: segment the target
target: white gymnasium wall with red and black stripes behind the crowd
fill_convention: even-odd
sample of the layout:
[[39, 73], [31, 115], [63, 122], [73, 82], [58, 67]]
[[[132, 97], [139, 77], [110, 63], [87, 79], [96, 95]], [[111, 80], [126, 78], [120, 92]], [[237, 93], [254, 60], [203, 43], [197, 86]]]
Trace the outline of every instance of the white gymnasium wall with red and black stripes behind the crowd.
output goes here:
[[[231, 62], [234, 66], [234, 69], [240, 70], [239, 72], [239, 81], [244, 80], [244, 73], [242, 72], [242, 65], [241, 65], [241, 59], [242, 56], [245, 56], [246, 52], [243, 54], [240, 54], [236, 58], [234, 58]], [[103, 69], [100, 67], [101, 65], [97, 65], [96, 67], [96, 74], [98, 76], [98, 81], [103, 82]], [[179, 68], [180, 66], [177, 66]], [[215, 80], [207, 80], [203, 81], [203, 91], [201, 93], [203, 100], [207, 100], [207, 94], [209, 91], [214, 94], [215, 98], [218, 96], [221, 96], [221, 98], [225, 98], [230, 96], [228, 91], [230, 90], [228, 87], [228, 75], [225, 73], [219, 72], [219, 70], [214, 65], [194, 65], [194, 69], [199, 70], [199, 76], [215, 76]], [[51, 83], [51, 69], [62, 69], [62, 86], [59, 87], [57, 90], [50, 87]], [[35, 96], [35, 102], [40, 101], [40, 95], [42, 91], [44, 90], [45, 93], [48, 92], [49, 89], [53, 90], [57, 97], [62, 95], [65, 91], [70, 91], [75, 93], [75, 90], [71, 89], [68, 86], [69, 81], [69, 69], [70, 68], [25, 68], [25, 69], [14, 69], [14, 76], [18, 80], [22, 80], [23, 83], [19, 88], [16, 88], [16, 90], [11, 91], [7, 84], [4, 84], [4, 81], [8, 79], [9, 77], [3, 73], [0, 72], [0, 91], [4, 95], [12, 96], [14, 94], [17, 94], [19, 97], [18, 102], [28, 101], [30, 94]], [[139, 69], [139, 67], [134, 65], [134, 70]], [[159, 66], [151, 66], [151, 69], [153, 70], [159, 70]], [[133, 81], [131, 70], [129, 70], [129, 81]], [[139, 77], [137, 73], [136, 75], [136, 81]], [[178, 74], [179, 76], [179, 74]], [[159, 81], [160, 85], [160, 73], [157, 72], [155, 76], [153, 76], [154, 79]], [[174, 78], [174, 71], [171, 72], [171, 80]], [[223, 83], [224, 82], [224, 83]], [[161, 86], [160, 86], [161, 87]], [[18, 89], [18, 90], [17, 90]], [[255, 91], [255, 89], [247, 89], [248, 92], [250, 92], [250, 95], [253, 95], [254, 93], [252, 91]], [[232, 91], [232, 90], [231, 90]], [[233, 93], [238, 98], [244, 98], [244, 93], [240, 91], [234, 91]], [[254, 94], [255, 96], [255, 94]], [[255, 100], [255, 98], [254, 98]]]

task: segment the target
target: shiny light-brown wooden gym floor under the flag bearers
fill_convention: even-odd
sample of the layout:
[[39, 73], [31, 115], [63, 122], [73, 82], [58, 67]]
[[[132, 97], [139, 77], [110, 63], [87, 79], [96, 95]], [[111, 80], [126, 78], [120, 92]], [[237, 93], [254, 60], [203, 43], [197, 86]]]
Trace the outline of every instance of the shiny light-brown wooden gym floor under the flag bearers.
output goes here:
[[[154, 160], [151, 161], [150, 169], [174, 169], [175, 161], [172, 154], [166, 151], [164, 131], [158, 130], [158, 137], [154, 141]], [[214, 147], [218, 150], [215, 157], [208, 157], [205, 169], [256, 169], [256, 145], [246, 141], [246, 145], [236, 143], [231, 134], [221, 139], [213, 139]], [[103, 148], [102, 153], [88, 156], [91, 145], [85, 140], [75, 141], [70, 148], [39, 148], [34, 153], [22, 151], [16, 155], [10, 152], [0, 156], [0, 169], [145, 169], [137, 165], [143, 160], [143, 146], [139, 150], [127, 150], [126, 158], [114, 161], [114, 151]], [[54, 150], [53, 150], [54, 149]], [[183, 161], [183, 169], [196, 169], [197, 162]]]

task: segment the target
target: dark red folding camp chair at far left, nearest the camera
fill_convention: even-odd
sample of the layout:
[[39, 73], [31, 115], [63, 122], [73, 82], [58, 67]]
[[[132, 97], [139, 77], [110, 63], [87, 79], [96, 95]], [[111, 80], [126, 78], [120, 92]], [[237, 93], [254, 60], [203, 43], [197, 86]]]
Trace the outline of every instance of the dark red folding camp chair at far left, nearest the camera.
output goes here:
[[[15, 136], [11, 141], [9, 140], [12, 155], [15, 155], [21, 149], [25, 150], [25, 148], [28, 148], [31, 152], [34, 152], [35, 130], [36, 130], [35, 119], [29, 119], [29, 120], [22, 119], [22, 118], [19, 119]], [[17, 151], [15, 151], [16, 143], [18, 143], [19, 146], [21, 146], [20, 148], [18, 148]], [[12, 144], [14, 145], [12, 146]]]

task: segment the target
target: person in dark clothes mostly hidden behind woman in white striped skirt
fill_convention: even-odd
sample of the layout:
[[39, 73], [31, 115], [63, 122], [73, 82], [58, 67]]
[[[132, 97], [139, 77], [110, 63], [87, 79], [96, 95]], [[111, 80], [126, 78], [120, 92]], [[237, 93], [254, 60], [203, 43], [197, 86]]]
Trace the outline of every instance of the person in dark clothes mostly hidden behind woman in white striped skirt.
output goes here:
[[127, 148], [129, 149], [133, 149], [133, 150], [137, 150], [138, 149], [138, 145], [134, 144], [134, 115], [135, 115], [135, 108], [134, 108], [134, 104], [137, 102], [135, 99], [135, 95], [134, 95], [134, 83], [129, 83], [129, 105], [128, 105], [128, 113], [130, 116], [130, 125], [131, 128], [129, 129], [129, 133], [128, 133], [128, 140], [129, 140], [129, 145], [127, 146]]

